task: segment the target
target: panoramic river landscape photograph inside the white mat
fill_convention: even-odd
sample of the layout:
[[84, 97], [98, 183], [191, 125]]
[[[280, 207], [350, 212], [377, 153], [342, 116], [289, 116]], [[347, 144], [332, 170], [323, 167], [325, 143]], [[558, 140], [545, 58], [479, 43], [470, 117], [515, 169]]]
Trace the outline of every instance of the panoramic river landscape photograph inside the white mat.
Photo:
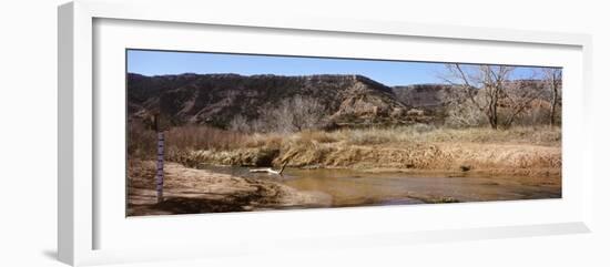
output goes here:
[[561, 198], [561, 66], [416, 60], [125, 49], [125, 215]]

